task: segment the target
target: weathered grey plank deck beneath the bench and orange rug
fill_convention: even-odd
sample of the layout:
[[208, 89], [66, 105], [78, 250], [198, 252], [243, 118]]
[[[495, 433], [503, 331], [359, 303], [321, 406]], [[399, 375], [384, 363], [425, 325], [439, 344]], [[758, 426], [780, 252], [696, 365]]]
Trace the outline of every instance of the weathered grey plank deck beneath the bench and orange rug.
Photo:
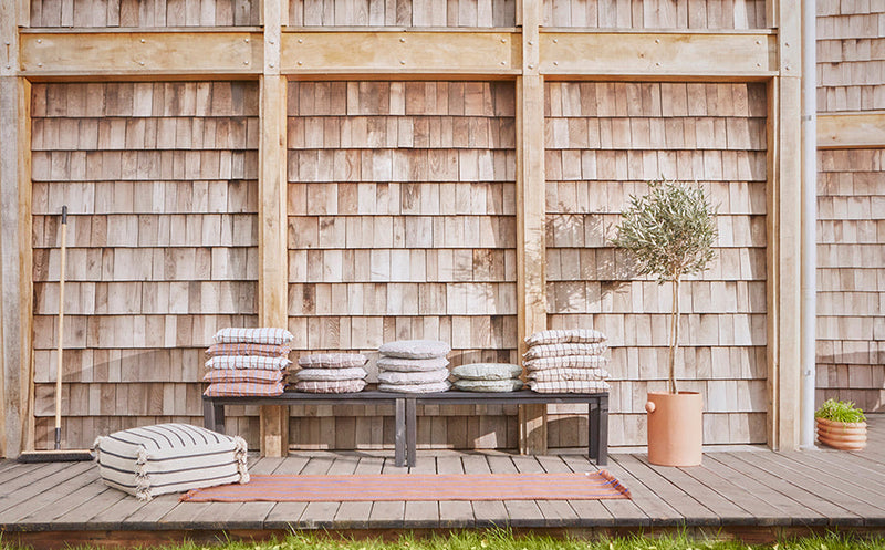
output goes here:
[[[652, 466], [642, 453], [614, 453], [607, 469], [632, 500], [423, 502], [140, 502], [105, 487], [91, 463], [0, 461], [3, 542], [62, 547], [82, 541], [133, 543], [216, 537], [266, 537], [293, 529], [360, 533], [509, 525], [555, 533], [687, 528], [746, 540], [829, 529], [885, 532], [885, 415], [871, 415], [867, 448], [772, 453], [710, 452], [694, 468]], [[256, 458], [254, 474], [405, 474], [584, 471], [576, 454], [425, 453], [414, 468], [393, 453], [299, 453]]]

